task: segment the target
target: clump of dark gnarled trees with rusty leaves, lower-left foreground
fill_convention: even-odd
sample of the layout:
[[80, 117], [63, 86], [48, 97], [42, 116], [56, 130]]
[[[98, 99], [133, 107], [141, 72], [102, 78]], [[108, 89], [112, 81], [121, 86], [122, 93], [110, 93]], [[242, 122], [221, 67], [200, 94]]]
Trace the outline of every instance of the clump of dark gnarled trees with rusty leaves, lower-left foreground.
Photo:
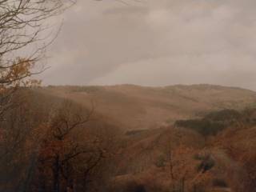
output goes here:
[[95, 116], [94, 106], [86, 110], [74, 102], [64, 102], [54, 110], [40, 144], [35, 177], [39, 179], [33, 182], [36, 189], [58, 192], [104, 188], [115, 155], [115, 133], [112, 127], [95, 128]]

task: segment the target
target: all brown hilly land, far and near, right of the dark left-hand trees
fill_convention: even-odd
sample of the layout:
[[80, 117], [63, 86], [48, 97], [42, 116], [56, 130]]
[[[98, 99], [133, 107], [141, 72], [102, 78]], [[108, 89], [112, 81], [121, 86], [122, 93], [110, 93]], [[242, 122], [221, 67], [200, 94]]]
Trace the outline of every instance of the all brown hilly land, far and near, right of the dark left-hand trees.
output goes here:
[[[47, 86], [32, 93], [42, 106], [68, 99], [94, 107], [96, 121], [88, 126], [115, 129], [118, 155], [112, 159], [110, 191], [170, 191], [181, 182], [191, 191], [255, 187], [254, 91], [122, 85]], [[220, 129], [211, 131], [216, 127]]]

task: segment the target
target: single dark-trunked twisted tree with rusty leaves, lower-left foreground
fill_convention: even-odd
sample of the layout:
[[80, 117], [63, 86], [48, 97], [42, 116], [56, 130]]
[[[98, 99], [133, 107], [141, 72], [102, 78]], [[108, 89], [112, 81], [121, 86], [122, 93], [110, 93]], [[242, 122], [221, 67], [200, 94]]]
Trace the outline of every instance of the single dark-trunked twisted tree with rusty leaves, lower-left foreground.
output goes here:
[[65, 102], [54, 112], [49, 131], [42, 143], [39, 161], [42, 162], [42, 166], [51, 167], [52, 185], [56, 192], [61, 190], [62, 178], [66, 180], [67, 188], [74, 188], [72, 161], [82, 154], [96, 153], [95, 149], [86, 146], [86, 141], [81, 143], [73, 138], [78, 129], [82, 129], [83, 125], [90, 121], [93, 112], [94, 107], [85, 113], [72, 102]]

